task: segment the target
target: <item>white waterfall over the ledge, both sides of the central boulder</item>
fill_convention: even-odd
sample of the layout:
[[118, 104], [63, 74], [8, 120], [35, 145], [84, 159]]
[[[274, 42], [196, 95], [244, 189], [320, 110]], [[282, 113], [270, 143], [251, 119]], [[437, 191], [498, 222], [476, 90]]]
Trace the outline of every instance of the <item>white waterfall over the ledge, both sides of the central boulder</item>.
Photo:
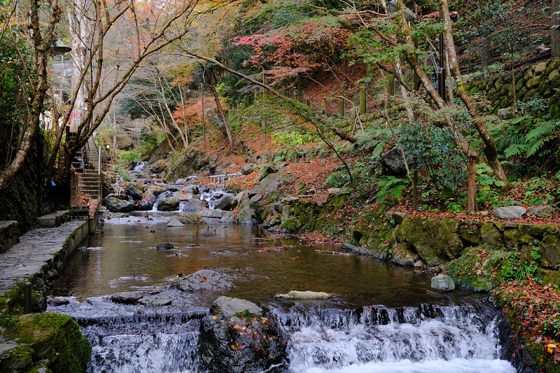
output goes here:
[[[94, 303], [93, 306], [99, 306]], [[283, 373], [514, 373], [509, 335], [491, 304], [325, 309], [267, 304], [290, 342]], [[114, 308], [114, 307], [113, 307]], [[94, 308], [96, 309], [96, 308]], [[145, 310], [145, 309], [144, 309]], [[163, 311], [163, 312], [162, 312]], [[71, 313], [92, 342], [87, 373], [203, 373], [200, 318], [206, 311]], [[87, 316], [90, 314], [90, 316]]]

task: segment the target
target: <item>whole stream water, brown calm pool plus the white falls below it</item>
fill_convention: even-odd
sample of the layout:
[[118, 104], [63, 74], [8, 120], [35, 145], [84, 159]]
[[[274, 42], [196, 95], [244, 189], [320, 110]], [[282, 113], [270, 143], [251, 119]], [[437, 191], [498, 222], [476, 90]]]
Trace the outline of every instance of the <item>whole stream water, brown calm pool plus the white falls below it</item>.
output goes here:
[[[318, 253], [336, 249], [258, 227], [167, 227], [177, 214], [107, 220], [50, 290], [70, 303], [48, 311], [75, 318], [94, 346], [87, 372], [199, 372], [200, 318], [221, 295], [269, 309], [286, 331], [286, 364], [274, 372], [515, 372], [506, 360], [511, 351], [503, 318], [485, 295], [436, 293], [419, 270]], [[156, 250], [167, 241], [174, 249]], [[169, 287], [199, 269], [214, 269], [236, 287], [202, 294]], [[274, 300], [290, 290], [334, 296]], [[123, 291], [165, 295], [172, 304], [109, 300]]]

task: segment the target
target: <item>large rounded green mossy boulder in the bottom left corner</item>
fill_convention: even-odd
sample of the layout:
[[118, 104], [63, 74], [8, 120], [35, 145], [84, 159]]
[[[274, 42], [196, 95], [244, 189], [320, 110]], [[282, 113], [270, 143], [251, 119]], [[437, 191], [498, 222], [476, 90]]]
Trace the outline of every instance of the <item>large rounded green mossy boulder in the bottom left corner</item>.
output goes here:
[[82, 373], [92, 352], [76, 321], [50, 312], [15, 319], [3, 338], [26, 344], [33, 349], [34, 360], [48, 360], [53, 373]]

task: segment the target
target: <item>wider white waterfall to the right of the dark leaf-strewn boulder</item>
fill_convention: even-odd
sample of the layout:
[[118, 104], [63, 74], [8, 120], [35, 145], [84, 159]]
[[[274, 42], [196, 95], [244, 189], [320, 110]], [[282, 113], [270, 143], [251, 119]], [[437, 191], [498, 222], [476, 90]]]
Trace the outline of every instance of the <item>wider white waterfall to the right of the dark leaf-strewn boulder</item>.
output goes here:
[[[482, 315], [482, 316], [481, 316]], [[291, 372], [513, 373], [500, 316], [472, 306], [280, 311]]]

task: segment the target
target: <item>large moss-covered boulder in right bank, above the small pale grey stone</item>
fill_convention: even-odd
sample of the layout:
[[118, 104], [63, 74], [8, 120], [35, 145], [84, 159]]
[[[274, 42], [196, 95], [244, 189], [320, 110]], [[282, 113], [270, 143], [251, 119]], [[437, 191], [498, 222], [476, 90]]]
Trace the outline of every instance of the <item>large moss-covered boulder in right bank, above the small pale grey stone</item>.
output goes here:
[[444, 264], [457, 258], [463, 250], [458, 221], [451, 218], [407, 216], [402, 220], [396, 238], [414, 247], [428, 265]]

